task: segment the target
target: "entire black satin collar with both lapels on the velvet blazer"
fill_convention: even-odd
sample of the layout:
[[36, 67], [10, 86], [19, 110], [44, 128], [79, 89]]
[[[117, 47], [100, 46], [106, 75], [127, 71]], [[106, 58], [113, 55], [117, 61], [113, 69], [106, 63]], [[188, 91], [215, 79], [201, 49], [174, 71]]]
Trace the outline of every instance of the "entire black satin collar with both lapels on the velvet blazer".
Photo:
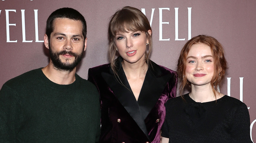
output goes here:
[[165, 85], [170, 79], [170, 75], [162, 75], [159, 66], [153, 61], [150, 61], [137, 102], [123, 71], [122, 60], [119, 56], [115, 61], [118, 76], [114, 74], [111, 68], [109, 68], [108, 73], [102, 72], [102, 76], [118, 101], [136, 121], [145, 135], [148, 136], [144, 119], [146, 119], [147, 115], [158, 102]]

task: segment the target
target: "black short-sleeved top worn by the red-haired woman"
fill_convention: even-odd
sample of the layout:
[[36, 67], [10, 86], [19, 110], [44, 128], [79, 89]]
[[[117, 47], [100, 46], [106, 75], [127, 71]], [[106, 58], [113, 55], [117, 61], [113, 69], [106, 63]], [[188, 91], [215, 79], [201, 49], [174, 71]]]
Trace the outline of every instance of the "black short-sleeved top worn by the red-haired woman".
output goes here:
[[227, 95], [198, 103], [188, 94], [166, 103], [162, 136], [169, 143], [251, 143], [247, 106]]

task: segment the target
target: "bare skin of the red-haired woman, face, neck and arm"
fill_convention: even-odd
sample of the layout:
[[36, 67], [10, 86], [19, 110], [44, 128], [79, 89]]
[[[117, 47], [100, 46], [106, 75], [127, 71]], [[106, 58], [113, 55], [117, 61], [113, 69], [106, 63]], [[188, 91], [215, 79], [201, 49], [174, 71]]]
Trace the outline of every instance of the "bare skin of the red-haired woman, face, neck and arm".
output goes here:
[[[211, 87], [214, 74], [214, 58], [208, 45], [193, 44], [186, 59], [185, 76], [191, 83], [189, 97], [196, 102], [210, 102], [220, 99], [224, 94], [215, 91]], [[162, 137], [161, 143], [168, 143], [169, 138]]]

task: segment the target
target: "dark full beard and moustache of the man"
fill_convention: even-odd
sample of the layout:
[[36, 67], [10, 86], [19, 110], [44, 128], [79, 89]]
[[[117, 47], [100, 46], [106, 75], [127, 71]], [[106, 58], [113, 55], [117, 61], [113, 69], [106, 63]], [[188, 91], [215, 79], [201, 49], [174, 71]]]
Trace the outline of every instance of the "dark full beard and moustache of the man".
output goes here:
[[[83, 50], [83, 52], [84, 52], [84, 50]], [[60, 52], [53, 52], [53, 50], [49, 44], [50, 58], [52, 60], [53, 67], [56, 68], [56, 70], [58, 70], [58, 71], [69, 71], [69, 72], [73, 71], [74, 68], [81, 61], [81, 59], [83, 57], [83, 52], [81, 54], [77, 54], [72, 51], [66, 51], [66, 50], [63, 50]], [[70, 63], [70, 59], [66, 59], [65, 62], [61, 61], [59, 56], [65, 55], [65, 54], [69, 54], [69, 55], [75, 57], [75, 60], [73, 61], [73, 63]]]

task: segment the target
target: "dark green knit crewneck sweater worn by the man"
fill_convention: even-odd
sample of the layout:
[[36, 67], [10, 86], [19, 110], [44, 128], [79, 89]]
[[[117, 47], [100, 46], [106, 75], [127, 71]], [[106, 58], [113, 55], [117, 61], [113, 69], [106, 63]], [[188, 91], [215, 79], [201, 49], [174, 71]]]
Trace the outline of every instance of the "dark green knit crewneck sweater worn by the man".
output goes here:
[[0, 90], [0, 142], [98, 142], [99, 93], [75, 74], [58, 85], [40, 69], [6, 82]]

